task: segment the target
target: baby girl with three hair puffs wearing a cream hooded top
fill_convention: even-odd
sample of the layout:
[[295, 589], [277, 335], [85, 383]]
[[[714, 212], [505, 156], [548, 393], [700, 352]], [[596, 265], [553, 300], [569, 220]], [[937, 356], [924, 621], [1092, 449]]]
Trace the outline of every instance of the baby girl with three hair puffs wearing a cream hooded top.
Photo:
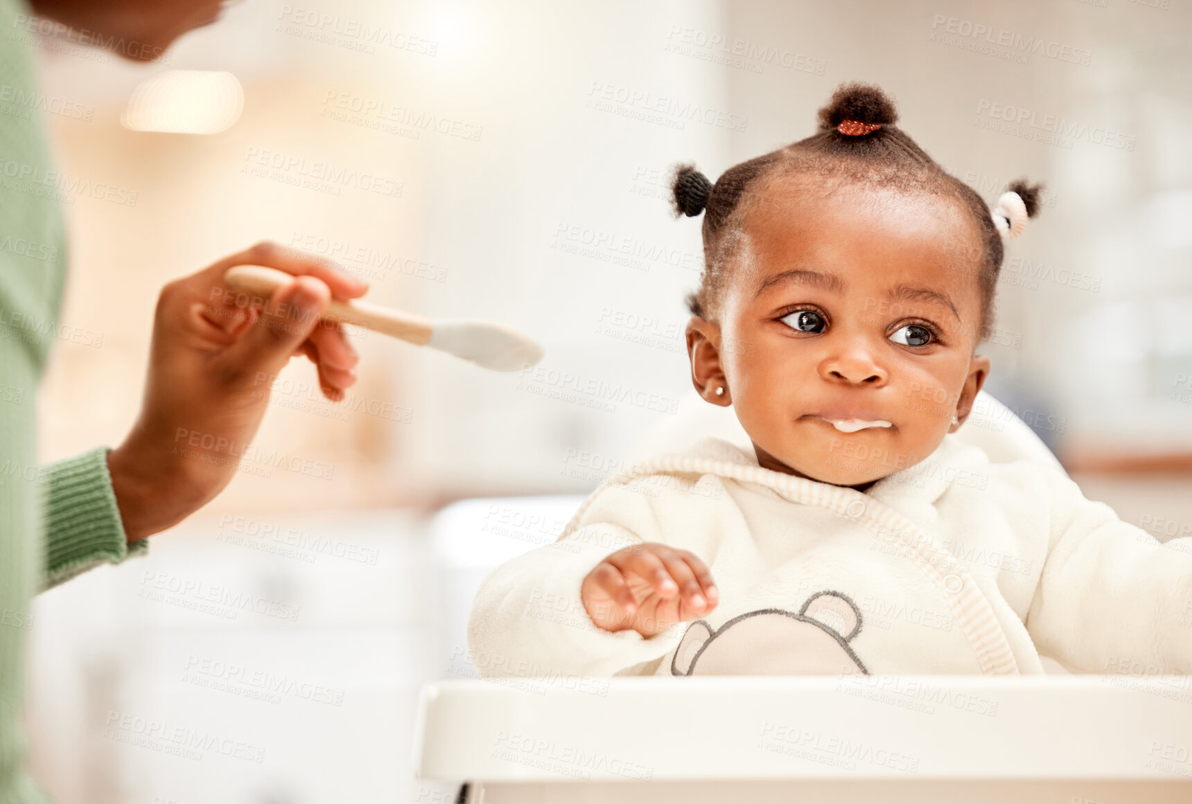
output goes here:
[[896, 119], [846, 85], [815, 135], [714, 185], [678, 169], [676, 208], [704, 216], [691, 380], [752, 450], [652, 459], [498, 567], [482, 674], [1192, 673], [1192, 538], [950, 435], [1038, 188], [991, 211]]

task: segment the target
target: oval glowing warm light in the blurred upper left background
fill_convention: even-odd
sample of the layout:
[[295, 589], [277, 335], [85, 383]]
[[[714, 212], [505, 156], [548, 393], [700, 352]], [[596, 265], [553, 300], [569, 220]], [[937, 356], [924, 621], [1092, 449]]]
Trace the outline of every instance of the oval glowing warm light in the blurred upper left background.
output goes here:
[[244, 91], [231, 73], [167, 70], [142, 81], [120, 117], [134, 131], [219, 133], [244, 107]]

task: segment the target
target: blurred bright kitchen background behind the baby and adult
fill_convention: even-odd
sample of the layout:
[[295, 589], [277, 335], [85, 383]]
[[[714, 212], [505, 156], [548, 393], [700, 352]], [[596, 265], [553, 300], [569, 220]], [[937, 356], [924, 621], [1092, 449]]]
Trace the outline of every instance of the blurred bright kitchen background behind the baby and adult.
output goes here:
[[496, 374], [358, 334], [340, 405], [293, 361], [256, 443], [330, 470], [247, 465], [147, 559], [38, 600], [37, 775], [62, 804], [452, 800], [410, 769], [418, 686], [470, 674], [460, 616], [493, 560], [452, 534], [551, 541], [695, 404], [700, 230], [666, 174], [812, 133], [845, 80], [895, 95], [991, 204], [1047, 182], [986, 387], [1087, 496], [1192, 534], [1190, 31], [1149, 0], [244, 0], [162, 63], [37, 38], [69, 177], [62, 323], [89, 334], [56, 347], [44, 459], [120, 441], [159, 288], [260, 239], [546, 348]]

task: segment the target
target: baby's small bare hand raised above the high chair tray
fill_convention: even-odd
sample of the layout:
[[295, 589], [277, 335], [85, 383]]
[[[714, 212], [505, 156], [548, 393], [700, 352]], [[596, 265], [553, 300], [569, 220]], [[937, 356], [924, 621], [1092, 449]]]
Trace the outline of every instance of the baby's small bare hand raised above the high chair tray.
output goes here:
[[653, 636], [715, 609], [720, 590], [693, 553], [642, 542], [596, 565], [579, 596], [588, 616], [606, 631], [632, 628]]

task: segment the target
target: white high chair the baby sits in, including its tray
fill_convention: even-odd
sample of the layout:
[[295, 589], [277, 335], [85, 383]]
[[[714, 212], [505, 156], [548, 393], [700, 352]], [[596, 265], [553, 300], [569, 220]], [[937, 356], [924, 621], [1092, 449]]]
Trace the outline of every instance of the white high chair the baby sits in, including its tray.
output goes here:
[[[626, 462], [714, 435], [731, 410], [694, 398]], [[1058, 467], [981, 393], [956, 437], [994, 462]], [[433, 525], [454, 674], [467, 610], [498, 563], [553, 542], [583, 497], [465, 500]], [[465, 603], [466, 602], [466, 603]], [[1192, 803], [1192, 677], [721, 677], [446, 680], [423, 687], [420, 778], [465, 804]]]

